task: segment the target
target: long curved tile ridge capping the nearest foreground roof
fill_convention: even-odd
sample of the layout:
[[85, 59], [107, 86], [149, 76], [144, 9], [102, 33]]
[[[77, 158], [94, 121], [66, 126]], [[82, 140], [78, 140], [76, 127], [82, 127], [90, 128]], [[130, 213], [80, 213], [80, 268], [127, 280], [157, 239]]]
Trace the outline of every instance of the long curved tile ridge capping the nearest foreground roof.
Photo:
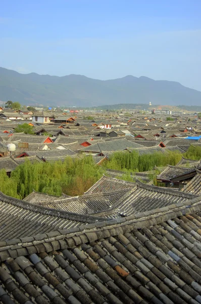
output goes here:
[[[66, 230], [58, 230], [51, 233], [36, 235], [31, 237], [19, 238], [10, 241], [0, 242], [0, 260], [5, 261], [7, 258], [16, 258], [22, 255], [19, 248], [23, 248], [23, 255], [29, 255], [27, 248], [32, 246], [32, 249], [37, 253], [37, 245], [42, 243], [58, 242], [58, 249], [71, 248], [72, 244], [81, 245], [103, 238], [118, 236], [121, 233], [128, 233], [133, 230], [142, 229], [151, 225], [159, 224], [169, 219], [174, 219], [185, 214], [193, 214], [201, 210], [201, 196], [196, 199], [187, 200], [183, 203], [176, 203], [163, 208], [153, 209], [137, 215], [126, 216], [123, 218], [112, 219], [110, 221], [96, 222], [87, 225], [81, 225]], [[79, 236], [79, 239], [78, 239]], [[16, 245], [18, 250], [16, 250]], [[36, 247], [35, 247], [36, 245]], [[44, 247], [44, 246], [43, 246]], [[54, 248], [54, 247], [53, 247]], [[45, 251], [45, 247], [42, 251]]]

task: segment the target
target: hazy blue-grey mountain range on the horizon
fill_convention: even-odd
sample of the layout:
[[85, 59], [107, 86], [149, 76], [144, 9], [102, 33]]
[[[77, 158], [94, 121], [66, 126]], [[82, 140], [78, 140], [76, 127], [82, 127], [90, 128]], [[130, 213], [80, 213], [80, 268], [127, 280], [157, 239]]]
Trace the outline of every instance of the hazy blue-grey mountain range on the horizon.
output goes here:
[[0, 100], [26, 105], [43, 104], [90, 107], [118, 103], [200, 105], [201, 92], [180, 83], [128, 75], [96, 80], [83, 75], [64, 77], [20, 74], [0, 67]]

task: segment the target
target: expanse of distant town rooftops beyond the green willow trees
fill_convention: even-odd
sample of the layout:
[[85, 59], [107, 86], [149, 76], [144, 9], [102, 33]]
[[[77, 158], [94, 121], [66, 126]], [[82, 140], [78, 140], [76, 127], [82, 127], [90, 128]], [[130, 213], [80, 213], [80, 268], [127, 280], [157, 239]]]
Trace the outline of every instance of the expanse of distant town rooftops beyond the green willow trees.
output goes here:
[[[164, 154], [179, 151], [183, 154], [190, 145], [201, 145], [200, 121], [194, 116], [190, 117], [190, 121], [188, 116], [174, 117], [172, 122], [166, 121], [165, 116], [159, 119], [137, 114], [126, 117], [109, 113], [106, 118], [103, 114], [93, 113], [93, 119], [88, 120], [84, 117], [90, 114], [88, 112], [68, 117], [62, 112], [25, 114], [26, 110], [21, 110], [26, 117], [54, 119], [40, 123], [34, 120], [6, 119], [7, 111], [10, 116], [13, 115], [13, 110], [0, 111], [0, 168], [5, 168], [8, 174], [24, 161], [24, 157], [30, 161], [53, 161], [64, 160], [66, 156], [82, 157], [91, 154], [95, 163], [101, 164], [114, 151], [136, 150], [140, 155], [156, 151]], [[58, 123], [57, 118], [61, 117], [63, 121]], [[33, 126], [35, 135], [15, 132], [15, 128], [24, 123]], [[12, 157], [8, 150], [10, 143], [16, 145]]]

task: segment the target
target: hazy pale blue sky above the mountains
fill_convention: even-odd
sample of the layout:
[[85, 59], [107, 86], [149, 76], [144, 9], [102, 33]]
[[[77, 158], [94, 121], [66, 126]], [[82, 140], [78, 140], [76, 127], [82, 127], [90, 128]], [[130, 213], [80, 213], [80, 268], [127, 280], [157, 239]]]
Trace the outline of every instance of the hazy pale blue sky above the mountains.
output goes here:
[[201, 91], [201, 0], [1, 0], [0, 66]]

